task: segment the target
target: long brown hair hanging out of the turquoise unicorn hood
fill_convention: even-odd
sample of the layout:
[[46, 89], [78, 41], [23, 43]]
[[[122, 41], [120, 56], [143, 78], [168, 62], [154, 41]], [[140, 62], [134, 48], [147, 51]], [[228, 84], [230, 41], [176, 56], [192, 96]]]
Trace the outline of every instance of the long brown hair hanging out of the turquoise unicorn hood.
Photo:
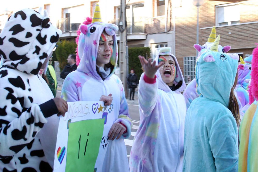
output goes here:
[[235, 118], [236, 122], [237, 122], [237, 126], [239, 127], [240, 126], [240, 113], [239, 113], [239, 105], [238, 105], [238, 102], [237, 102], [237, 98], [234, 94], [234, 89], [237, 85], [237, 75], [236, 75], [236, 78], [235, 78], [235, 83], [233, 85], [233, 87], [231, 88], [231, 91], [230, 91], [230, 96], [229, 96], [229, 106], [228, 106], [228, 109], [232, 112], [233, 114], [233, 117]]

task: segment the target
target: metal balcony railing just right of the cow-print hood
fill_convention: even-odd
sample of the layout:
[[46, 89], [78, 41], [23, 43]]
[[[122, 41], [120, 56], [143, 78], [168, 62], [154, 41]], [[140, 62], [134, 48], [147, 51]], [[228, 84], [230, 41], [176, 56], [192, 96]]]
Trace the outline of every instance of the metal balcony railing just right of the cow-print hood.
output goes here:
[[62, 18], [57, 22], [57, 28], [62, 32], [77, 31], [81, 23], [71, 23], [70, 18]]

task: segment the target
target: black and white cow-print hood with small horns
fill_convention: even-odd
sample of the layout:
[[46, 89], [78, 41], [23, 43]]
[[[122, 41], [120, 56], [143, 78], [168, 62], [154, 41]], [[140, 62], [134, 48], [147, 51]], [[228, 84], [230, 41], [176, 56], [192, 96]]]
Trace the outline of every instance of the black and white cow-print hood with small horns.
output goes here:
[[61, 34], [46, 11], [44, 17], [32, 9], [14, 13], [0, 34], [3, 65], [37, 75]]

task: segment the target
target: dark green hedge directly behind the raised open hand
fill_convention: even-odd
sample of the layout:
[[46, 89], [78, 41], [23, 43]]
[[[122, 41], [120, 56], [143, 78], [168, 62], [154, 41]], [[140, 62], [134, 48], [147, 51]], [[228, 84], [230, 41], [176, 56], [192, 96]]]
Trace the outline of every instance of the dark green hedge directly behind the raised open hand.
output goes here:
[[149, 47], [128, 48], [128, 54], [129, 54], [128, 73], [130, 73], [130, 70], [133, 68], [139, 80], [143, 71], [142, 71], [142, 68], [141, 68], [142, 66], [138, 56], [141, 55], [141, 56], [144, 56], [145, 58], [150, 58], [150, 48]]

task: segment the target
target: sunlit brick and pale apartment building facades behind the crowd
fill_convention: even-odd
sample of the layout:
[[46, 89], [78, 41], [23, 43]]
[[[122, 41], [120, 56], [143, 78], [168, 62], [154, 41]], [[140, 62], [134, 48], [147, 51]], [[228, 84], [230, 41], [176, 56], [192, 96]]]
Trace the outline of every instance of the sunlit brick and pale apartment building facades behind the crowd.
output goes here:
[[[43, 0], [15, 5], [15, 8], [6, 2], [4, 7], [11, 13], [28, 7], [44, 8], [52, 24], [62, 30], [60, 39], [74, 40], [80, 23], [93, 15], [97, 3], [102, 21], [119, 25], [120, 0]], [[251, 55], [258, 43], [257, 9], [258, 0], [205, 0], [199, 7], [199, 44], [207, 41], [215, 26], [217, 35], [221, 35], [220, 45], [231, 46], [229, 53], [238, 53], [243, 58]], [[150, 47], [154, 59], [161, 47], [170, 46], [185, 81], [194, 78], [197, 7], [192, 0], [126, 0], [126, 17], [128, 47]], [[7, 18], [8, 15], [0, 11], [0, 31]], [[119, 32], [117, 38], [119, 41]]]

